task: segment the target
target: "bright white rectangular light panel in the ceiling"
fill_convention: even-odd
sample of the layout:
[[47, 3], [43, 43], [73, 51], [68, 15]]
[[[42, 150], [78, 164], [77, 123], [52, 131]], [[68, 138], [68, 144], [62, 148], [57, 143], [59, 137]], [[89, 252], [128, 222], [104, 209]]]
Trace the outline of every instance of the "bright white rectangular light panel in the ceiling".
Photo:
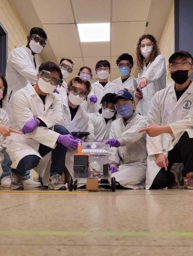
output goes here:
[[81, 42], [109, 42], [110, 23], [77, 24]]

